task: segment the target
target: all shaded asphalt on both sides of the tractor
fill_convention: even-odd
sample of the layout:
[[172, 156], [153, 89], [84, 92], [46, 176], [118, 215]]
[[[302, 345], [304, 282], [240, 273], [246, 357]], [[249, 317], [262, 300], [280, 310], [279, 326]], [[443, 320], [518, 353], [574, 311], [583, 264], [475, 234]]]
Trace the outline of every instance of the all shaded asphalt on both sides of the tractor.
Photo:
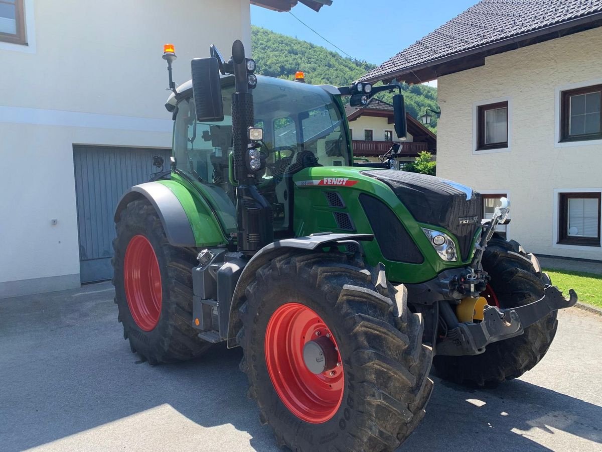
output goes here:
[[[255, 402], [247, 399], [240, 348], [219, 345], [191, 362], [151, 366], [121, 339], [111, 287], [85, 291], [1, 304], [3, 450], [35, 447], [114, 421], [123, 422], [119, 428], [135, 441], [153, 427], [142, 424], [143, 430], [130, 432], [141, 424], [126, 418], [166, 405], [171, 409], [157, 412], [160, 422], [178, 425], [184, 416], [202, 427], [231, 424], [251, 437], [242, 441], [255, 450], [277, 450], [270, 428], [259, 424]], [[526, 437], [533, 429], [550, 435], [557, 429], [602, 444], [600, 419], [602, 407], [526, 381], [473, 391], [435, 378], [427, 415], [400, 451], [545, 450]], [[232, 447], [246, 446], [237, 441]]]

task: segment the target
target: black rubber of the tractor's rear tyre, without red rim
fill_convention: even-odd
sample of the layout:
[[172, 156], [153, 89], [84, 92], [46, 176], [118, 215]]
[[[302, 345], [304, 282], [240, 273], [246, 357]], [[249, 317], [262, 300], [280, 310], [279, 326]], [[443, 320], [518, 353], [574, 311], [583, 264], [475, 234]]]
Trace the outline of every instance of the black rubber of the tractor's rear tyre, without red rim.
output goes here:
[[[122, 211], [113, 240], [115, 303], [118, 320], [123, 324], [123, 338], [129, 339], [133, 352], [151, 364], [188, 360], [199, 356], [211, 344], [197, 337], [190, 326], [192, 319], [191, 268], [196, 265], [193, 248], [172, 246], [154, 207], [146, 199], [132, 201]], [[162, 302], [157, 325], [144, 331], [132, 318], [126, 299], [123, 264], [132, 237], [142, 235], [152, 245], [161, 273]]]

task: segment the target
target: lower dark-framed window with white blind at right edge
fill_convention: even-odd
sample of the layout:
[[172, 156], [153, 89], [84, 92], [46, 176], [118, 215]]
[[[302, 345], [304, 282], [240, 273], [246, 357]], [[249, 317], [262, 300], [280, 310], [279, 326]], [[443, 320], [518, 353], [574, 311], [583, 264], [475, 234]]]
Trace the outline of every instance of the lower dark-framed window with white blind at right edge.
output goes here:
[[560, 193], [558, 242], [600, 246], [600, 192]]

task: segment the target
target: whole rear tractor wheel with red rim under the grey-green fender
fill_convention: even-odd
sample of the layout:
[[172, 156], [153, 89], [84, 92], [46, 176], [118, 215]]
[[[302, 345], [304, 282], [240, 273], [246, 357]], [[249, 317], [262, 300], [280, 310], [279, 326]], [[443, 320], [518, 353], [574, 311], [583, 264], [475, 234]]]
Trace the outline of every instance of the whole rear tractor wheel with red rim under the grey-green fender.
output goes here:
[[113, 240], [113, 285], [123, 338], [152, 365], [184, 361], [211, 344], [191, 326], [193, 248], [172, 246], [146, 199], [122, 211]]

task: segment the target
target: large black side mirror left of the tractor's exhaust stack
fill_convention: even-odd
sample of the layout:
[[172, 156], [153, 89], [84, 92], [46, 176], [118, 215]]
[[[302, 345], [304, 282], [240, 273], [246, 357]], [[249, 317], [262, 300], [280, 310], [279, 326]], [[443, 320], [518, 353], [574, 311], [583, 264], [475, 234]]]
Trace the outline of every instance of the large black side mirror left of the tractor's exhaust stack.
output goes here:
[[217, 58], [194, 58], [190, 69], [197, 121], [223, 121], [222, 84]]

